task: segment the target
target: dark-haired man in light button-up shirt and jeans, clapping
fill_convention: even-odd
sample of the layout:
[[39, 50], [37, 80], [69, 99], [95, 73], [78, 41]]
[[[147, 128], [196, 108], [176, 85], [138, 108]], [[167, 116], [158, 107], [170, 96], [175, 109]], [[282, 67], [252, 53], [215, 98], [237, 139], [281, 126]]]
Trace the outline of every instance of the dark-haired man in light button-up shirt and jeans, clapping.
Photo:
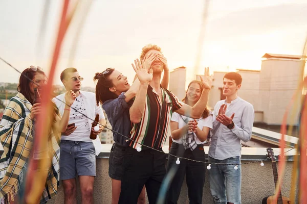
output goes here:
[[251, 139], [254, 108], [237, 96], [242, 77], [239, 73], [226, 73], [223, 95], [226, 99], [216, 103], [213, 111], [212, 139], [209, 147], [210, 190], [215, 203], [241, 203], [241, 140]]

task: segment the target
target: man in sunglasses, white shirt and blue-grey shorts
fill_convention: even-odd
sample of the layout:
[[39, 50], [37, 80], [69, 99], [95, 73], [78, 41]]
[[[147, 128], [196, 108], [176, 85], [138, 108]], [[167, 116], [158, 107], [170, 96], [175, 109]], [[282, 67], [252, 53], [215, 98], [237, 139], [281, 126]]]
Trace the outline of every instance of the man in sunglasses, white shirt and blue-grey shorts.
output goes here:
[[[96, 176], [96, 156], [101, 151], [99, 136], [90, 139], [91, 131], [98, 135], [103, 130], [105, 118], [101, 107], [96, 104], [95, 93], [80, 91], [83, 78], [76, 68], [67, 68], [61, 73], [61, 81], [67, 90], [76, 93], [71, 106], [69, 125], [61, 137], [60, 180], [64, 188], [65, 203], [77, 203], [76, 172], [79, 177], [82, 203], [94, 203], [93, 189]], [[62, 113], [65, 110], [64, 95], [53, 99]], [[92, 122], [99, 114], [99, 131], [92, 129]]]

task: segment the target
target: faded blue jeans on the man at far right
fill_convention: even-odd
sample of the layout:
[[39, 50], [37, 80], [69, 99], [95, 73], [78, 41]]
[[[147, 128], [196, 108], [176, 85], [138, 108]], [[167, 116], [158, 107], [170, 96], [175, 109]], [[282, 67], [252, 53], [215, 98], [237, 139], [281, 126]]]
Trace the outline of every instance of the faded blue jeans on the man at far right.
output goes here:
[[[209, 162], [237, 164], [240, 163], [240, 157], [231, 157], [225, 160], [209, 157]], [[241, 203], [241, 165], [237, 166], [237, 170], [234, 167], [235, 165], [211, 164], [209, 184], [215, 203]]]

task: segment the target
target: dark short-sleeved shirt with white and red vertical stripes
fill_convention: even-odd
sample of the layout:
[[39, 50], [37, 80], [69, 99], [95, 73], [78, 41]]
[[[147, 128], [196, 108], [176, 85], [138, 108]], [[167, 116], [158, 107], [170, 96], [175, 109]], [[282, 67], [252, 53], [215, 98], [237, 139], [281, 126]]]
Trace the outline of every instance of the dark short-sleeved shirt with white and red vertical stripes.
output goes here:
[[[157, 92], [148, 86], [143, 117], [139, 123], [134, 124], [129, 135], [131, 139], [152, 148], [164, 145], [167, 136], [170, 136], [172, 113], [183, 106], [183, 102], [170, 91], [162, 87], [161, 90], [162, 101]], [[133, 141], [129, 145], [142, 148], [142, 145]]]

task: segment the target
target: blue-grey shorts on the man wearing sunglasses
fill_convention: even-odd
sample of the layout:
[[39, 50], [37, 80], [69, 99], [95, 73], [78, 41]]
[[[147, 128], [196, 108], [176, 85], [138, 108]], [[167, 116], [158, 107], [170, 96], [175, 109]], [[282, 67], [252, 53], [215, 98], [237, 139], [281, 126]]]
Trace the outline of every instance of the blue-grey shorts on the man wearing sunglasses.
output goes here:
[[96, 176], [96, 154], [93, 142], [61, 140], [60, 180], [78, 175]]

